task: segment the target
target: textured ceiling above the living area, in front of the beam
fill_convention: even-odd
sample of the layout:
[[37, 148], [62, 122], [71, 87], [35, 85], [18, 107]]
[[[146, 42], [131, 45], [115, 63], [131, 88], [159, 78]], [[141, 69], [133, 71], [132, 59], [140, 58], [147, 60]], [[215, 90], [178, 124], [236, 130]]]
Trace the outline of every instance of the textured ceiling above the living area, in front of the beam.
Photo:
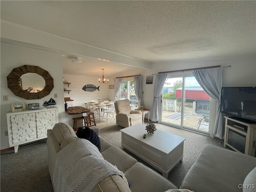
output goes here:
[[148, 62], [256, 53], [256, 1], [0, 1], [0, 5], [2, 20]]

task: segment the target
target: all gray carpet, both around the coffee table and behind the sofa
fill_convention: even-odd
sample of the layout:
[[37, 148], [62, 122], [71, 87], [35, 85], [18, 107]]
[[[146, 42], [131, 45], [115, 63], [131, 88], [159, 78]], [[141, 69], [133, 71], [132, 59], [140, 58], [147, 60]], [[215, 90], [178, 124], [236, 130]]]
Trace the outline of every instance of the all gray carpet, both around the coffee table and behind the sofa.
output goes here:
[[[157, 123], [156, 128], [158, 130], [163, 130], [186, 138], [184, 141], [183, 162], [179, 162], [171, 170], [168, 176], [168, 179], [172, 181], [178, 188], [205, 144], [223, 147], [223, 143], [220, 144], [222, 140], [213, 139], [207, 136]], [[113, 145], [121, 148], [120, 129], [122, 129], [122, 127], [118, 125], [101, 128], [100, 135]], [[126, 152], [134, 156], [130, 152]], [[138, 157], [134, 156], [134, 158], [152, 168]], [[0, 160], [1, 192], [53, 192], [52, 183], [48, 172], [46, 141], [22, 146], [19, 148], [18, 153], [14, 153], [14, 150], [3, 152], [1, 153]]]

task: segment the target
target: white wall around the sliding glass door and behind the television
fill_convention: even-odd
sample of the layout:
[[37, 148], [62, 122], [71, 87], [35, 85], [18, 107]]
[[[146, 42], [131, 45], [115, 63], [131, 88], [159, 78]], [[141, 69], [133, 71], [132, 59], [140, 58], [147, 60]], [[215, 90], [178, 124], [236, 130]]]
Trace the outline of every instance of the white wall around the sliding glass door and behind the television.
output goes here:
[[[223, 69], [222, 86], [256, 86], [256, 58], [244, 57], [244, 58], [224, 58], [224, 59], [208, 59], [208, 60], [190, 60], [190, 61], [175, 61], [175, 62], [157, 62], [152, 63], [150, 70], [145, 69], [133, 69], [128, 72], [118, 74], [120, 76], [129, 76], [141, 74], [143, 75], [144, 91], [144, 107], [152, 109], [153, 95], [154, 95], [154, 82], [156, 76], [153, 75], [153, 84], [146, 84], [146, 76], [157, 74], [158, 72], [182, 70], [190, 68], [200, 68], [207, 66], [222, 67], [231, 65], [232, 67]], [[116, 78], [117, 76], [111, 77]], [[112, 80], [113, 83], [114, 81]], [[114, 83], [113, 83], [114, 84]], [[114, 97], [114, 91], [108, 92], [108, 97]]]

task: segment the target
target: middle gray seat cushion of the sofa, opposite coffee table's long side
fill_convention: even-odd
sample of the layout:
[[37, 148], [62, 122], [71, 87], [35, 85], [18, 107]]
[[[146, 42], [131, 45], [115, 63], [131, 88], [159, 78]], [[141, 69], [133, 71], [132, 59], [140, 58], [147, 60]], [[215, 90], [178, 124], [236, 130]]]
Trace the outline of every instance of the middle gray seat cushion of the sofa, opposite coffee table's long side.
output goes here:
[[103, 151], [101, 154], [105, 160], [110, 162], [112, 165], [117, 166], [118, 169], [122, 172], [125, 172], [136, 162], [138, 162], [136, 159], [128, 155], [117, 146], [112, 146]]

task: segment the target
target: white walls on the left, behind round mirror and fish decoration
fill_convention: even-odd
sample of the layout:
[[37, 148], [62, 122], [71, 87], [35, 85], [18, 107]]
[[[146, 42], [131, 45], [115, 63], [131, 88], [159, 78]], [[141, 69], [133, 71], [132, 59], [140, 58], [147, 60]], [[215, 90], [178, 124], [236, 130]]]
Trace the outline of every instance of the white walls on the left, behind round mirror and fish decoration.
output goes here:
[[[7, 131], [6, 112], [11, 111], [11, 103], [25, 102], [26, 108], [28, 108], [29, 103], [39, 103], [40, 106], [42, 106], [45, 101], [48, 102], [50, 98], [53, 98], [57, 103], [56, 107], [58, 107], [59, 122], [72, 125], [72, 118], [79, 115], [68, 115], [65, 113], [64, 97], [70, 97], [74, 100], [73, 106], [84, 106], [85, 101], [98, 100], [98, 98], [111, 100], [108, 98], [109, 84], [100, 84], [98, 82], [98, 78], [100, 78], [101, 74], [99, 74], [99, 77], [63, 74], [62, 59], [62, 54], [1, 43], [1, 149], [9, 148], [8, 136], [4, 136], [4, 131]], [[48, 96], [38, 100], [26, 100], [14, 95], [7, 87], [6, 77], [8, 74], [10, 74], [13, 68], [25, 64], [39, 66], [50, 73], [54, 79], [54, 88]], [[63, 77], [71, 83], [69, 87], [71, 90], [70, 94], [64, 92]], [[94, 84], [97, 87], [100, 86], [100, 91], [86, 92], [82, 90], [83, 86], [86, 84]], [[54, 94], [58, 94], [58, 98], [54, 98]], [[4, 95], [8, 95], [8, 101], [3, 100]]]

